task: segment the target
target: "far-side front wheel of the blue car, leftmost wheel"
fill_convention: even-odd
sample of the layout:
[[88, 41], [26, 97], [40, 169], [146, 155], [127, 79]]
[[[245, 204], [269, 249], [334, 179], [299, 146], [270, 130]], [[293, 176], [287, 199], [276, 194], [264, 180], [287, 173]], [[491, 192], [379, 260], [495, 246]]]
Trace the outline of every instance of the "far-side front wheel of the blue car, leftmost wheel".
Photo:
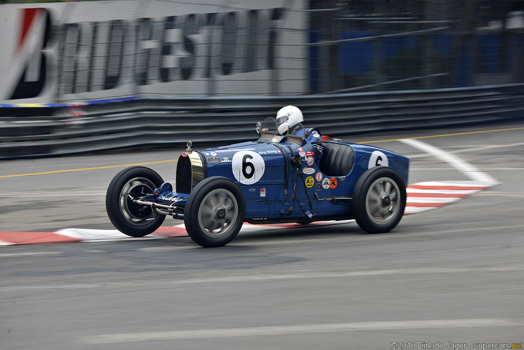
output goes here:
[[154, 213], [150, 206], [133, 203], [129, 195], [138, 199], [152, 194], [162, 183], [162, 177], [145, 166], [132, 166], [116, 174], [105, 197], [105, 209], [113, 225], [132, 237], [144, 237], [159, 228], [166, 216]]

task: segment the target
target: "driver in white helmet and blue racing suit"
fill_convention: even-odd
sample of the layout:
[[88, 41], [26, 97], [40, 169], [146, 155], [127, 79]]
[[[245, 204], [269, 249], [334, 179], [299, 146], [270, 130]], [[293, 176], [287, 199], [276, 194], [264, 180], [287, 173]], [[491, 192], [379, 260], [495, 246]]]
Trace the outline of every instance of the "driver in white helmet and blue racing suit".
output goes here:
[[[294, 125], [302, 123], [304, 121], [302, 112], [297, 107], [294, 107], [294, 105], [282, 107], [277, 112], [277, 116], [275, 119], [277, 120], [277, 131], [280, 135], [286, 135], [286, 133], [288, 132], [288, 128], [293, 128]], [[297, 136], [302, 136], [303, 133], [304, 130], [302, 129], [297, 131], [290, 131], [291, 135]], [[318, 161], [322, 156], [322, 150], [324, 148], [322, 146], [320, 132], [315, 128], [306, 128], [305, 139], [313, 145], [313, 149], [315, 150], [315, 161]]]

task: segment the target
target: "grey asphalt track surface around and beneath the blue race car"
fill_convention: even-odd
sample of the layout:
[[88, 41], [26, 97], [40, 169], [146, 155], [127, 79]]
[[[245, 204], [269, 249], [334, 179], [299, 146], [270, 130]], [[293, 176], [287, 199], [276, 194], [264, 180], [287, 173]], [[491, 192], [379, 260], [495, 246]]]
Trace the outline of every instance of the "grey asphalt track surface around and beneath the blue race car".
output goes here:
[[[514, 128], [521, 129], [470, 133]], [[524, 123], [492, 124], [344, 139], [466, 133], [419, 140], [501, 183], [406, 216], [388, 234], [344, 224], [243, 234], [216, 249], [199, 248], [187, 237], [0, 247], [0, 349], [521, 343], [522, 128]], [[411, 158], [409, 183], [468, 179], [404, 143], [371, 144]], [[180, 152], [0, 162], [0, 230], [111, 229], [104, 197], [123, 168], [115, 166], [176, 160]], [[176, 162], [149, 166], [166, 181], [174, 179]], [[61, 172], [81, 168], [97, 169]]]

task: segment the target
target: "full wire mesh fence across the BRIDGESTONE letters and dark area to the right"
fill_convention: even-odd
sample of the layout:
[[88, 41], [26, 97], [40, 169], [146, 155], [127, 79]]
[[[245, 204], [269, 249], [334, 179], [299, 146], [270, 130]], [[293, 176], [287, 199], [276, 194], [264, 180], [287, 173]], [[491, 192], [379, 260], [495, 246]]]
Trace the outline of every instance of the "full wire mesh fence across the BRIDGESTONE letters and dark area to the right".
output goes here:
[[521, 0], [128, 0], [96, 16], [85, 6], [55, 26], [57, 100], [524, 81]]

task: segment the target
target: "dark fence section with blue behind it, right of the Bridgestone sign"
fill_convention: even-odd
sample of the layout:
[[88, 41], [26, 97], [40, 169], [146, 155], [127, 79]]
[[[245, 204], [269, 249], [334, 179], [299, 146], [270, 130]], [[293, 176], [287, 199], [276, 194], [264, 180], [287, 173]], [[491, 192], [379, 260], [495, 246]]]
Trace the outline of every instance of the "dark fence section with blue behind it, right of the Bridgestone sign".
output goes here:
[[312, 93], [524, 79], [522, 1], [325, 0], [310, 7]]

